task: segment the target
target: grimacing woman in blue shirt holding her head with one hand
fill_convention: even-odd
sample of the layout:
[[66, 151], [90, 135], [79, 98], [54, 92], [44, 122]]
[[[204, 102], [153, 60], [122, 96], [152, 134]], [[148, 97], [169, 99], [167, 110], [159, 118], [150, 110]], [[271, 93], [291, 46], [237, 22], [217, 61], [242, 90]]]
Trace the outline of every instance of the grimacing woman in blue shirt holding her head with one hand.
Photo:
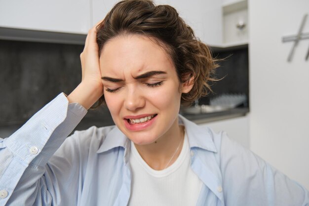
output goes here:
[[[225, 133], [178, 115], [209, 91], [216, 63], [174, 8], [117, 3], [80, 57], [77, 88], [0, 141], [0, 206], [309, 204], [304, 187]], [[98, 99], [116, 126], [66, 139]]]

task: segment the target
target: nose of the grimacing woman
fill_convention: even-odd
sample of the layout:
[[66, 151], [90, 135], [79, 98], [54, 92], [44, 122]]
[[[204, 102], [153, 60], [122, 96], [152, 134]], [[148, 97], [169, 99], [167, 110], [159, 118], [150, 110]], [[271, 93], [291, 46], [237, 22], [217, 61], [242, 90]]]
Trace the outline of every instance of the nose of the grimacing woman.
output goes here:
[[128, 88], [124, 99], [124, 106], [127, 110], [135, 111], [145, 106], [145, 98], [136, 87]]

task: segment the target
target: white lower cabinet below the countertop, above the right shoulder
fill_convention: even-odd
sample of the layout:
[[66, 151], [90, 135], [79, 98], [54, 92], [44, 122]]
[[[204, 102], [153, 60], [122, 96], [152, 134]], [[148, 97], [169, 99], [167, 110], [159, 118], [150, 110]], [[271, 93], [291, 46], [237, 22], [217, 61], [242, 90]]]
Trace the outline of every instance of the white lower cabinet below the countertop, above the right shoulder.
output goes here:
[[246, 148], [250, 146], [248, 115], [200, 125], [208, 126], [215, 132], [226, 131], [231, 139], [236, 140]]

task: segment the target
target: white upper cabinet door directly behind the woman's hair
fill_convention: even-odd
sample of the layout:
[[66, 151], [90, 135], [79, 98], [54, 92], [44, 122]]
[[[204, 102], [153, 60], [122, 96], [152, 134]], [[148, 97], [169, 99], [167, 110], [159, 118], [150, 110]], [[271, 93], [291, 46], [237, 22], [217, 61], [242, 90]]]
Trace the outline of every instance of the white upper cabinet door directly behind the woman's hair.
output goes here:
[[[93, 0], [94, 23], [103, 19], [117, 1]], [[154, 3], [175, 7], [201, 41], [211, 45], [222, 43], [221, 0], [154, 0]]]

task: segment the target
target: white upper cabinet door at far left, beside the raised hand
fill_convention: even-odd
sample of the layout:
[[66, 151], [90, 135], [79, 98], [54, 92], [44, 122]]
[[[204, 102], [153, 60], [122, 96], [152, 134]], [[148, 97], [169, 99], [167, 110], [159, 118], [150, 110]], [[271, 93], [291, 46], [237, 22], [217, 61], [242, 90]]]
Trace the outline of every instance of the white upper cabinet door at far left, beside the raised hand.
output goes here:
[[89, 0], [0, 0], [0, 27], [86, 34]]

